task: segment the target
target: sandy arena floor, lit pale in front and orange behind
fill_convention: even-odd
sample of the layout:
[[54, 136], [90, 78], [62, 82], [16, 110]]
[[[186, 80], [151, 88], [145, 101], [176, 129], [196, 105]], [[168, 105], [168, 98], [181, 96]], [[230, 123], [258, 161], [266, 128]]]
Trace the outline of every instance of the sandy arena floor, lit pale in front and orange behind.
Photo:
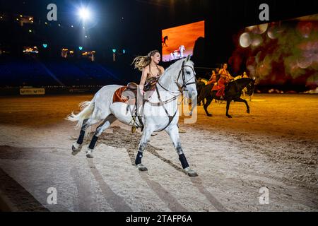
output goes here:
[[[213, 102], [206, 117], [180, 126], [182, 147], [199, 177], [182, 172], [170, 138], [151, 138], [133, 165], [140, 133], [118, 121], [95, 158], [71, 155], [78, 136], [64, 117], [92, 95], [0, 97], [0, 191], [28, 211], [317, 211], [318, 95], [255, 95], [245, 105]], [[57, 204], [47, 189], [57, 189]], [[269, 204], [259, 189], [269, 189]]]

